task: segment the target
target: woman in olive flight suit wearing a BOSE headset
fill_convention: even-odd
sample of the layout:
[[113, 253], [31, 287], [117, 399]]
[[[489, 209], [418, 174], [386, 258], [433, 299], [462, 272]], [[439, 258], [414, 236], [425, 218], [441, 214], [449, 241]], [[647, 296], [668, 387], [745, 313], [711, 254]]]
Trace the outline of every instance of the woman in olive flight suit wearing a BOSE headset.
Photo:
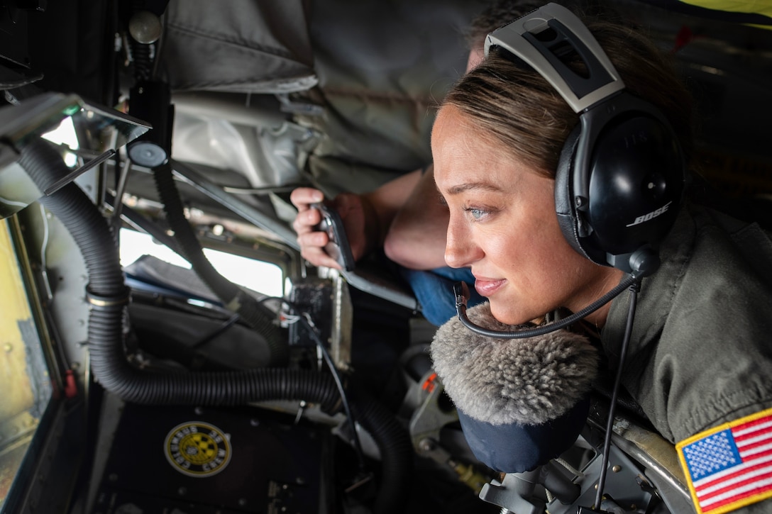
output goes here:
[[[627, 25], [547, 5], [496, 30], [432, 131], [445, 260], [472, 270], [506, 326], [581, 313], [635, 284], [635, 303], [615, 296], [584, 316], [611, 367], [625, 341], [621, 387], [676, 445], [698, 512], [767, 512], [772, 242], [689, 199], [689, 104], [669, 59]], [[444, 329], [432, 352], [449, 383], [463, 359], [441, 355]], [[557, 456], [523, 454], [499, 471]]]

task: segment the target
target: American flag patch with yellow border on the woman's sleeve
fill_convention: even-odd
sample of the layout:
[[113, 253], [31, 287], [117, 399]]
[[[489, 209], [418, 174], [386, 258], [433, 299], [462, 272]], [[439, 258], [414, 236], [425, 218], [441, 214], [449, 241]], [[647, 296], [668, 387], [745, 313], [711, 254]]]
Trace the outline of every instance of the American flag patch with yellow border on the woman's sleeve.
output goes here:
[[772, 496], [772, 409], [675, 445], [699, 514], [722, 514]]

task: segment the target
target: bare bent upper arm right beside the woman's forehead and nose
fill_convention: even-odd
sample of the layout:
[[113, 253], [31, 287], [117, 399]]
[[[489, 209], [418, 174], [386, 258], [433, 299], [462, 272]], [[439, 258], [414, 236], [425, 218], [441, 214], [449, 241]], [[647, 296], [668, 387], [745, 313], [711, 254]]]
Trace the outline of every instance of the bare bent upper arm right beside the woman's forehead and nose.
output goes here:
[[401, 208], [395, 213], [384, 241], [389, 259], [410, 269], [445, 265], [448, 209], [440, 201], [429, 166]]

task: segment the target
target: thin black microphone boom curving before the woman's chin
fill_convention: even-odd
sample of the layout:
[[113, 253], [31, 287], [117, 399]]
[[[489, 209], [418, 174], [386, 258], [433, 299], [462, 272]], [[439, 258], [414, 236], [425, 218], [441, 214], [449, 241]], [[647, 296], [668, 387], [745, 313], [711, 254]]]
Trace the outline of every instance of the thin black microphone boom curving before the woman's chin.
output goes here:
[[463, 323], [466, 328], [472, 330], [472, 332], [479, 333], [482, 336], [496, 337], [498, 339], [523, 339], [526, 337], [541, 336], [545, 333], [565, 328], [566, 326], [583, 319], [588, 314], [594, 313], [640, 279], [640, 277], [628, 275], [625, 279], [622, 279], [614, 289], [611, 289], [611, 291], [604, 294], [604, 296], [601, 296], [601, 298], [595, 300], [589, 306], [581, 309], [577, 313], [566, 316], [562, 320], [557, 320], [554, 323], [547, 323], [546, 325], [537, 326], [535, 328], [525, 328], [522, 330], [493, 330], [472, 323], [472, 321], [469, 320], [469, 317], [466, 316], [466, 303], [469, 301], [469, 286], [466, 285], [466, 282], [456, 282], [453, 284], [455, 312], [458, 313], [459, 320], [461, 320], [461, 323]]

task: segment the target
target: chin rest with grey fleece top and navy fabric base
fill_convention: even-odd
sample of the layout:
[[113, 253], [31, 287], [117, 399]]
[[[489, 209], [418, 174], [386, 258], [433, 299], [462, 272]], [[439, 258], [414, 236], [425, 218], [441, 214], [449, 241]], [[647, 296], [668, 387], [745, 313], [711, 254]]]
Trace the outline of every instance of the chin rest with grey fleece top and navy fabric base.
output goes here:
[[488, 303], [470, 308], [469, 316], [480, 331], [453, 318], [438, 328], [430, 350], [472, 453], [510, 473], [571, 448], [587, 418], [598, 350], [587, 336], [556, 328], [517, 340], [488, 336], [534, 330], [530, 323], [500, 323]]

